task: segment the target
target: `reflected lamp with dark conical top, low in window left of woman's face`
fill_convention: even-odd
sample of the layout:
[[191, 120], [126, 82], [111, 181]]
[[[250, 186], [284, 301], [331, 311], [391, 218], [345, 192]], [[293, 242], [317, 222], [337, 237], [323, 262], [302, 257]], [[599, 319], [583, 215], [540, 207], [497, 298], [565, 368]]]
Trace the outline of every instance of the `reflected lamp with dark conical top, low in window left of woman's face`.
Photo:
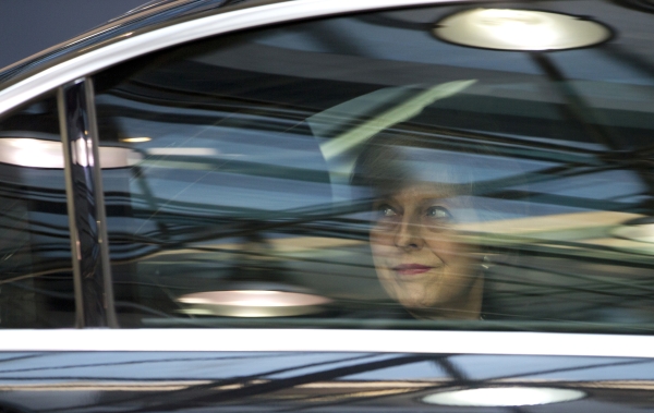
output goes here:
[[184, 313], [228, 317], [286, 317], [319, 313], [331, 300], [294, 286], [286, 268], [274, 258], [270, 244], [253, 231], [239, 248], [239, 258], [221, 290], [178, 299]]

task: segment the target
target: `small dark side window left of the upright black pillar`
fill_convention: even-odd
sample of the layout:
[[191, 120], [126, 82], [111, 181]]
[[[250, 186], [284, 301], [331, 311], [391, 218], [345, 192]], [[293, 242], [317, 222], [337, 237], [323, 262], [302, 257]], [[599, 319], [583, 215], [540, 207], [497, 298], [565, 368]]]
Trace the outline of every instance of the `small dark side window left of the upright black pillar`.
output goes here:
[[72, 327], [75, 305], [57, 99], [0, 120], [0, 327]]

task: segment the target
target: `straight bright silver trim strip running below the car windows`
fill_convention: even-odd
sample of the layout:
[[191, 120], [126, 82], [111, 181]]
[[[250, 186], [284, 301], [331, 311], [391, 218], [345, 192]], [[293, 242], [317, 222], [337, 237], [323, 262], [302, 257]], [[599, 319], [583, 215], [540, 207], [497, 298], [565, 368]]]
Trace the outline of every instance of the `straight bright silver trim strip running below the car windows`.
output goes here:
[[3, 352], [354, 351], [654, 359], [654, 337], [627, 335], [311, 328], [27, 329], [0, 335]]

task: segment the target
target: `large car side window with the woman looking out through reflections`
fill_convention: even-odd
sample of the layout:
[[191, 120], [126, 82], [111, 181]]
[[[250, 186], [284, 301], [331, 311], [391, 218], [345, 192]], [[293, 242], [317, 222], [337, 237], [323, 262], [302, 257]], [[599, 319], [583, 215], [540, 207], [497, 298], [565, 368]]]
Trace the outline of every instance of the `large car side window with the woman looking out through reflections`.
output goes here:
[[434, 35], [475, 8], [274, 26], [96, 75], [102, 145], [132, 151], [102, 171], [121, 325], [649, 331], [651, 15], [601, 3], [610, 38], [572, 50]]

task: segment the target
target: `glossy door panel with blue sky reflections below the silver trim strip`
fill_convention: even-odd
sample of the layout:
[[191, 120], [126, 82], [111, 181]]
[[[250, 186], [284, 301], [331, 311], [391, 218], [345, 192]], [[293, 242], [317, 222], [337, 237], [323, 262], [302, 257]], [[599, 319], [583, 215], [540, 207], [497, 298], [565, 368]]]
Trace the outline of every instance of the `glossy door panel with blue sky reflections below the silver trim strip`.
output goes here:
[[[565, 389], [558, 412], [652, 408], [652, 360], [370, 352], [3, 353], [0, 406], [15, 411], [448, 412], [461, 388]], [[473, 401], [474, 402], [474, 401]], [[476, 402], [482, 402], [477, 400]], [[510, 404], [514, 400], [505, 400]], [[488, 411], [489, 408], [456, 408]], [[491, 408], [496, 411], [502, 408]], [[506, 408], [504, 408], [506, 409]]]

